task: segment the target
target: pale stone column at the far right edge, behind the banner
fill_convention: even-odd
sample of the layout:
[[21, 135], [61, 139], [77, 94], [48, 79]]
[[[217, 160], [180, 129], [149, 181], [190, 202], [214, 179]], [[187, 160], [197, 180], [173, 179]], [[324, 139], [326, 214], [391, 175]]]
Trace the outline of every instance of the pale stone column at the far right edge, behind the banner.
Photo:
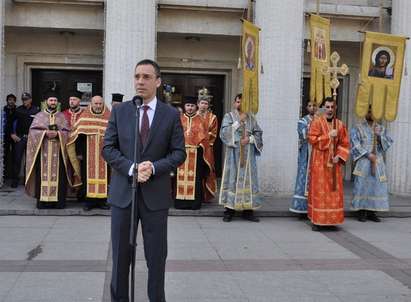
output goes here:
[[[411, 1], [392, 2], [391, 31], [411, 37]], [[390, 193], [411, 196], [411, 43], [407, 41], [405, 68], [401, 81], [400, 103], [397, 119], [388, 126], [394, 145], [387, 153], [387, 173]]]

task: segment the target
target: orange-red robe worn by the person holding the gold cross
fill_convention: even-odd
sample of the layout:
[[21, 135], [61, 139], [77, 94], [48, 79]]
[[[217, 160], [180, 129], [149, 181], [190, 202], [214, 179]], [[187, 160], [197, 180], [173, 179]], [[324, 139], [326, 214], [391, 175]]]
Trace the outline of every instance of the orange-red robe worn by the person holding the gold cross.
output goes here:
[[[330, 138], [332, 123], [324, 116], [315, 118], [308, 132], [312, 145], [308, 190], [308, 217], [315, 225], [337, 225], [344, 222], [344, 188], [342, 166], [348, 160], [350, 141], [344, 124], [335, 119], [338, 135]], [[334, 164], [332, 156], [340, 161]], [[333, 191], [333, 171], [336, 190]]]

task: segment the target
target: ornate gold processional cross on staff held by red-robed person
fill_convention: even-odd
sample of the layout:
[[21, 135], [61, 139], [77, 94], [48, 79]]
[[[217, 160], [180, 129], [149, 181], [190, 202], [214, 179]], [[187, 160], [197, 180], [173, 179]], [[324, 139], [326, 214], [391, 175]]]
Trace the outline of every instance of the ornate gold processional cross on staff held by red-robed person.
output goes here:
[[[338, 67], [338, 62], [340, 61], [341, 57], [340, 55], [334, 51], [331, 54], [330, 61], [331, 61], [331, 66], [324, 67], [322, 70], [324, 75], [330, 75], [331, 80], [330, 80], [330, 87], [333, 90], [333, 99], [334, 101], [337, 101], [337, 88], [340, 86], [340, 81], [338, 80], [338, 74], [341, 75], [346, 75], [349, 71], [349, 68], [346, 64], [342, 64], [340, 67]], [[335, 114], [334, 114], [334, 119], [332, 122], [332, 127], [333, 130], [336, 129], [336, 121], [335, 121]], [[333, 185], [332, 185], [332, 190], [336, 191], [337, 190], [337, 174], [336, 174], [336, 169], [335, 169], [335, 164], [333, 163], [333, 158], [334, 158], [334, 153], [336, 149], [336, 137], [332, 139], [332, 144], [331, 144], [331, 149], [330, 149], [330, 157], [328, 159], [327, 166], [329, 168], [332, 168], [332, 174], [333, 174]]]

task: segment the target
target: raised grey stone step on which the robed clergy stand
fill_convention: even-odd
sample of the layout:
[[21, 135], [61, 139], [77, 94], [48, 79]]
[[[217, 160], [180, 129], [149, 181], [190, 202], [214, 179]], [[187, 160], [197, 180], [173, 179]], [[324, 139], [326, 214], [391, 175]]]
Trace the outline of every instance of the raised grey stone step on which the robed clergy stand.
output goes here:
[[[350, 201], [352, 196], [352, 183], [345, 184], [345, 209], [346, 216], [353, 216], [350, 211]], [[263, 207], [259, 210], [260, 216], [266, 217], [289, 217], [295, 216], [288, 208], [290, 206], [291, 196], [270, 195], [264, 196]], [[389, 212], [381, 213], [385, 217], [411, 217], [411, 198], [390, 196], [391, 209]], [[33, 198], [24, 194], [23, 186], [18, 189], [4, 187], [0, 189], [0, 216], [1, 215], [53, 215], [53, 216], [109, 216], [109, 211], [92, 210], [84, 212], [82, 205], [76, 201], [68, 201], [67, 207], [63, 210], [37, 210]], [[218, 205], [216, 200], [204, 204], [200, 210], [187, 211], [171, 209], [171, 216], [221, 216], [223, 209]]]

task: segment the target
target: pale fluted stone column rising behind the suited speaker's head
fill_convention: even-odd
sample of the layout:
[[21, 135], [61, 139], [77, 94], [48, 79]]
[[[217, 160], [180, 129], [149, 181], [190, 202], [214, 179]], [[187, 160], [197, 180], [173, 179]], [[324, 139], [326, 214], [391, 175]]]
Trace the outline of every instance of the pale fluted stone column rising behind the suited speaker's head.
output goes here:
[[135, 91], [133, 72], [142, 59], [155, 58], [156, 0], [106, 1], [104, 41], [104, 98], [111, 103], [112, 93], [130, 100]]

